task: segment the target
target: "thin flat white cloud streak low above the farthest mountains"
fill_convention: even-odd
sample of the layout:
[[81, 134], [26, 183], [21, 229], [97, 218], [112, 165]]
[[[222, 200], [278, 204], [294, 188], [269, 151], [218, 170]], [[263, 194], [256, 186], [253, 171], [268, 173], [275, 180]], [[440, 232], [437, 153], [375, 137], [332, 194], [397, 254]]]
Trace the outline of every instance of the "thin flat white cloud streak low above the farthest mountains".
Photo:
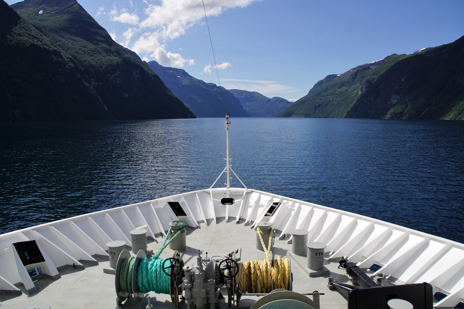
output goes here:
[[261, 81], [261, 80], [250, 80], [250, 79], [234, 79], [224, 78], [222, 79], [224, 87], [226, 89], [242, 89], [247, 91], [257, 91], [261, 94], [270, 93], [286, 93], [295, 92], [297, 89], [280, 84], [276, 81]]

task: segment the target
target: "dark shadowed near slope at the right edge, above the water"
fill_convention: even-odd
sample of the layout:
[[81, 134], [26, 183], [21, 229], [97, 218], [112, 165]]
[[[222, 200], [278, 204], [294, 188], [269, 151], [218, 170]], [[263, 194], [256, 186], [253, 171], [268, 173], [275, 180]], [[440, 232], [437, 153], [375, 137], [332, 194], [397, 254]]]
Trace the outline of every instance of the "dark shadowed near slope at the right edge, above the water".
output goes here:
[[346, 117], [464, 119], [464, 37], [392, 65]]

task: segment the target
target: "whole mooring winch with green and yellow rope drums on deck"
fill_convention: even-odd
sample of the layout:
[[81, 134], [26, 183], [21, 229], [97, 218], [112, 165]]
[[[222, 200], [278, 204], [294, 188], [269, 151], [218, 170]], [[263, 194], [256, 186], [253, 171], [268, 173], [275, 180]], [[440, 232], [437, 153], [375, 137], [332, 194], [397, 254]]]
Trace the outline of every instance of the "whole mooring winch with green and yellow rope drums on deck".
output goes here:
[[[251, 307], [240, 308], [288, 308], [286, 306], [291, 305], [301, 309], [319, 309], [320, 294], [317, 291], [307, 294], [313, 295], [313, 300], [291, 291], [290, 259], [271, 259], [275, 239], [271, 223], [260, 222], [257, 227], [257, 243], [259, 241], [266, 254], [262, 261], [240, 262], [241, 248], [226, 256], [208, 257], [205, 252], [204, 258], [198, 250], [193, 266], [184, 265], [178, 250], [171, 258], [159, 259], [161, 252], [172, 243], [174, 246], [170, 248], [182, 250], [186, 247], [184, 225], [187, 225], [184, 221], [171, 222], [161, 248], [152, 257], [147, 258], [146, 249], [139, 250], [135, 257], [129, 250], [121, 252], [115, 276], [118, 308], [130, 295], [136, 302], [141, 302], [148, 292], [155, 292], [170, 295], [175, 309], [214, 309], [218, 299], [224, 298], [222, 289], [227, 294], [227, 308], [238, 307], [242, 296], [264, 296]], [[183, 237], [177, 239], [181, 233], [184, 233]]]

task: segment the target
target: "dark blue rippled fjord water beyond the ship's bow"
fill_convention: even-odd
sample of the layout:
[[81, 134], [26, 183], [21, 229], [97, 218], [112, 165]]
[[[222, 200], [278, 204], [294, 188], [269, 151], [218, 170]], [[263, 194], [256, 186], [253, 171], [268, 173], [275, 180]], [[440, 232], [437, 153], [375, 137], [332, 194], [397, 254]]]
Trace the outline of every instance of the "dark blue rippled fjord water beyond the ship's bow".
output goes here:
[[[224, 122], [1, 123], [0, 233], [207, 189], [225, 166]], [[232, 118], [230, 128], [248, 188], [464, 242], [464, 121]]]

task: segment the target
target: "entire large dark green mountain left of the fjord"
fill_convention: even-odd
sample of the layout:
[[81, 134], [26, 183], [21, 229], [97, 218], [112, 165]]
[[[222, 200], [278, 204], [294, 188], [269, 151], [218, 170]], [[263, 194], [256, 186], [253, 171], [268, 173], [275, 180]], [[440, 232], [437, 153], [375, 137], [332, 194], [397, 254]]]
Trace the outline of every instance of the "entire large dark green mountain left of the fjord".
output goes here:
[[75, 0], [0, 0], [0, 96], [0, 121], [194, 117]]

